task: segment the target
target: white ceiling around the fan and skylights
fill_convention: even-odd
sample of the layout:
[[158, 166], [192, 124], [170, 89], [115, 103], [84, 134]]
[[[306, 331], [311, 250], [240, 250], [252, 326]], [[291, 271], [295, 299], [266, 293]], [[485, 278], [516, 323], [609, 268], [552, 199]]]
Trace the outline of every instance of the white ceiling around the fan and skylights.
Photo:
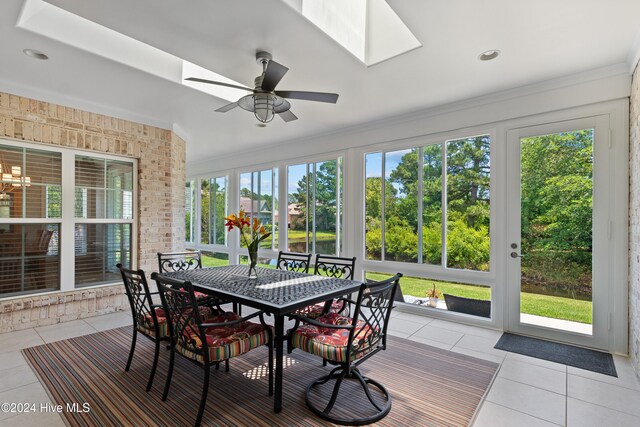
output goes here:
[[[367, 68], [283, 0], [47, 0], [243, 85], [266, 50], [290, 69], [278, 89], [340, 94], [336, 105], [292, 100], [294, 122], [259, 128], [239, 108], [215, 113], [228, 101], [179, 78], [17, 27], [24, 0], [0, 2], [0, 91], [174, 129], [195, 164], [585, 71], [631, 70], [640, 50], [638, 0], [387, 1], [422, 47]], [[489, 49], [502, 54], [479, 61]]]

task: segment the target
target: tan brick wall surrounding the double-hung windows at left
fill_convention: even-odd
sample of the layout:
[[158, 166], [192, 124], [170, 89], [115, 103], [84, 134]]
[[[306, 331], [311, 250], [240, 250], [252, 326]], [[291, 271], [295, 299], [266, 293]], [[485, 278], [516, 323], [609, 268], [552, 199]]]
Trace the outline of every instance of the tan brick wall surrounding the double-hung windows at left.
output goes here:
[[[184, 246], [185, 142], [170, 130], [0, 92], [0, 138], [138, 159], [138, 265]], [[0, 301], [0, 332], [129, 308], [123, 286]], [[0, 296], [1, 298], [1, 296]]]

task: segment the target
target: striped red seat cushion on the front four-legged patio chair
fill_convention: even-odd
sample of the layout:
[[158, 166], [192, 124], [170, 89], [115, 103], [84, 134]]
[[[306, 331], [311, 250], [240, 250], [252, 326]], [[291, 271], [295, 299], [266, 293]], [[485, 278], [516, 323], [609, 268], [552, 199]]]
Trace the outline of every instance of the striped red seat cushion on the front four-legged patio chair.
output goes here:
[[[233, 312], [222, 312], [206, 318], [206, 323], [223, 323], [240, 319]], [[248, 352], [249, 350], [267, 344], [269, 332], [267, 327], [260, 323], [241, 322], [233, 325], [210, 326], [205, 329], [209, 362], [217, 362], [230, 359]], [[186, 328], [184, 336], [187, 344], [178, 340], [176, 348], [190, 359], [204, 363], [202, 354], [202, 341], [195, 328]]]

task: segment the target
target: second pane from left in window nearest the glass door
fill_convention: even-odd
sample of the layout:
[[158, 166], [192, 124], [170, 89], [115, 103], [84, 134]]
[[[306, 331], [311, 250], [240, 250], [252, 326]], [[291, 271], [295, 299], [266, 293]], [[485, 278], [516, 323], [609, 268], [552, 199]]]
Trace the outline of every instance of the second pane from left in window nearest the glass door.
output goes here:
[[418, 150], [385, 153], [385, 260], [418, 262], [417, 190]]

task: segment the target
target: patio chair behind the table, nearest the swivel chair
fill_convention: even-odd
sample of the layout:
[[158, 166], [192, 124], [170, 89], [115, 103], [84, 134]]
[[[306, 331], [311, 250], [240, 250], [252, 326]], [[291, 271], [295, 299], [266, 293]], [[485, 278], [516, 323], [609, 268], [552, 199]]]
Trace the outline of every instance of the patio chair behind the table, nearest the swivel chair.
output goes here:
[[[315, 266], [313, 268], [313, 274], [353, 280], [355, 268], [356, 257], [341, 258], [336, 256], [317, 254]], [[304, 307], [296, 311], [296, 314], [310, 317], [312, 319], [317, 319], [323, 314], [341, 313], [347, 307], [348, 305], [344, 303], [344, 300], [335, 299]]]

